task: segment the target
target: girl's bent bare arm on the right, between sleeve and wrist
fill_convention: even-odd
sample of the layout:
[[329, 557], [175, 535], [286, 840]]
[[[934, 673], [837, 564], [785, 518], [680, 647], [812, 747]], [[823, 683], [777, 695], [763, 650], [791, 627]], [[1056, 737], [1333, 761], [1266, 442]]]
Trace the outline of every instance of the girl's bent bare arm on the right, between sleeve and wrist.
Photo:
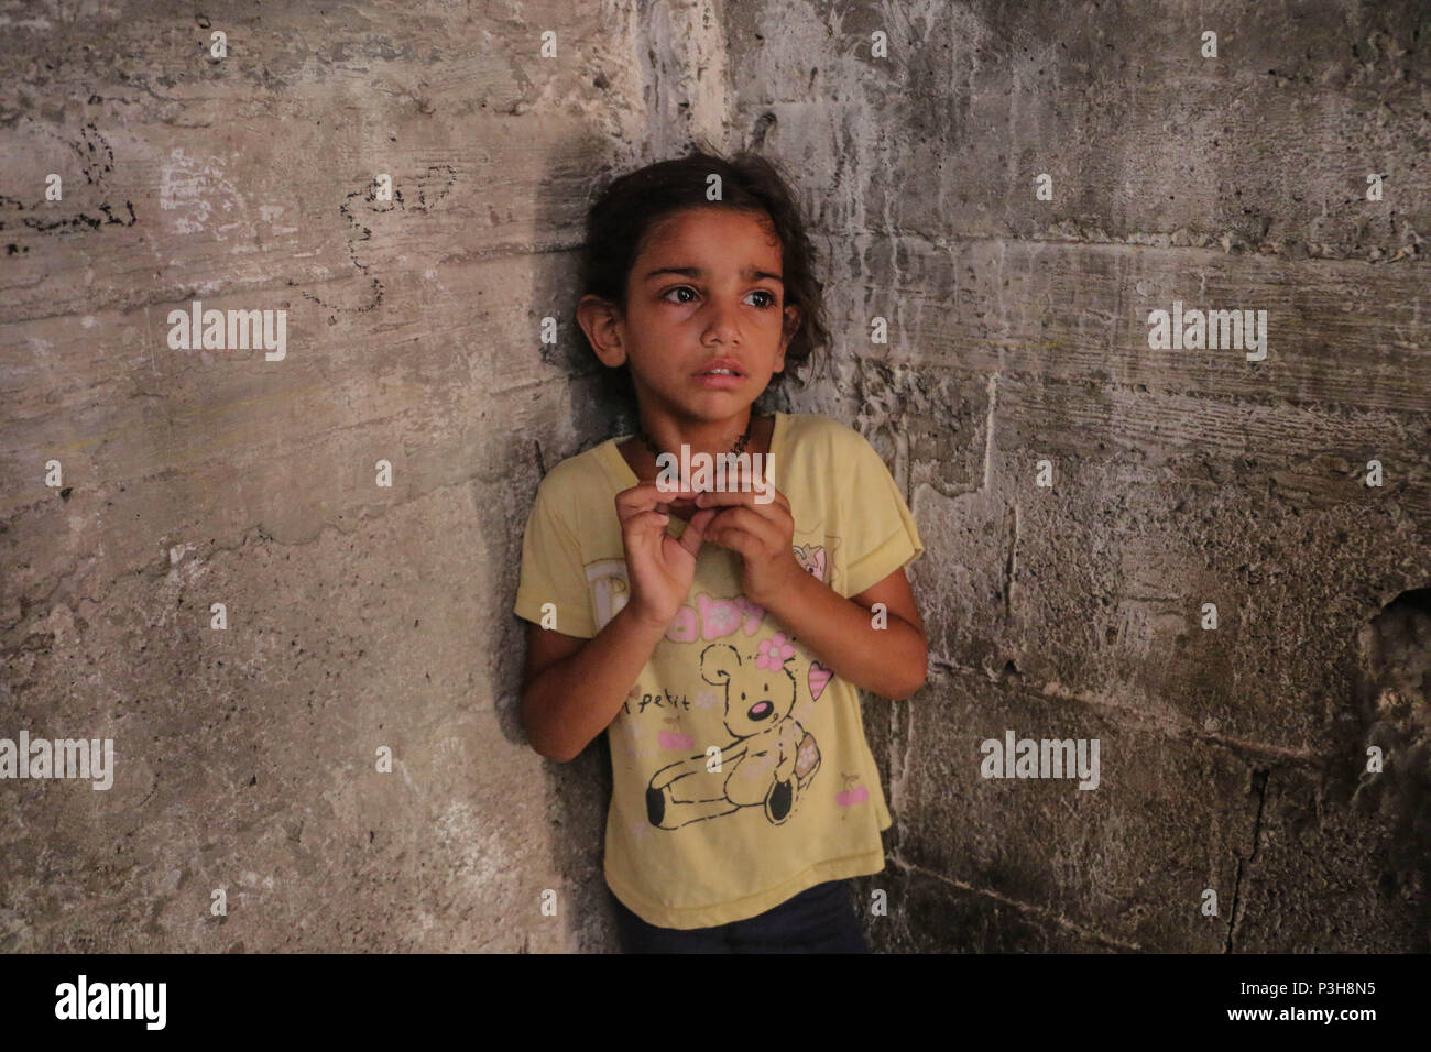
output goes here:
[[[886, 618], [870, 613], [876, 603], [884, 604]], [[766, 610], [790, 628], [820, 664], [861, 690], [900, 701], [924, 686], [929, 644], [903, 570], [851, 598], [813, 574], [801, 573], [790, 578], [790, 585], [781, 588]], [[881, 620], [889, 624], [876, 628], [874, 623]]]

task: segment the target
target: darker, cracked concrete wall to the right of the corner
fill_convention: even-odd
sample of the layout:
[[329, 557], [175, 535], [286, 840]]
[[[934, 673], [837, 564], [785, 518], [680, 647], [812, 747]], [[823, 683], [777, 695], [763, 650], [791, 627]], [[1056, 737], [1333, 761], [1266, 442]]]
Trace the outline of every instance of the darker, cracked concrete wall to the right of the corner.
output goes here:
[[[860, 421], [929, 548], [930, 681], [866, 701], [876, 945], [1428, 949], [1427, 9], [730, 26], [734, 125], [801, 173], [834, 273], [801, 401]], [[1173, 301], [1265, 309], [1265, 361], [1151, 348]], [[1098, 789], [982, 777], [1007, 730], [1098, 740]]]

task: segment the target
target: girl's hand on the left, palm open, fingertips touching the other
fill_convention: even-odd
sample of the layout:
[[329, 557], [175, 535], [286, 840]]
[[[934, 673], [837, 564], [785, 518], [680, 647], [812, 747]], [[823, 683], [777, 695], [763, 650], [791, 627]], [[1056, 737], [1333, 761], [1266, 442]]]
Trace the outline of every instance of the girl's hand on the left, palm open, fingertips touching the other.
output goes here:
[[671, 521], [667, 501], [694, 495], [690, 490], [665, 491], [640, 482], [617, 494], [621, 545], [625, 548], [631, 598], [627, 605], [643, 621], [665, 627], [675, 617], [695, 578], [695, 554], [714, 508], [695, 512], [680, 538], [665, 532]]

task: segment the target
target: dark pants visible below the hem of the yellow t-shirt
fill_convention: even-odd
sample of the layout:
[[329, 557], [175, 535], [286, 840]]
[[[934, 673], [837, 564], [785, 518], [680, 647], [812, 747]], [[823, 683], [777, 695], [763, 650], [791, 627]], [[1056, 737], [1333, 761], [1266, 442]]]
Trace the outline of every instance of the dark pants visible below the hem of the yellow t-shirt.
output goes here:
[[849, 880], [809, 887], [747, 920], [716, 927], [657, 927], [621, 905], [615, 910], [624, 953], [869, 953]]

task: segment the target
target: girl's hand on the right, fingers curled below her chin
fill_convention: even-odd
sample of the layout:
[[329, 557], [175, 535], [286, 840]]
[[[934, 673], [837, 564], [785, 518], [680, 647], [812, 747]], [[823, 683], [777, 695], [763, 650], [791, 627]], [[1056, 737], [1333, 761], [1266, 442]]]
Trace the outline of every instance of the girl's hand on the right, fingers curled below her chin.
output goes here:
[[757, 504], [748, 487], [734, 492], [704, 491], [697, 494], [695, 504], [703, 508], [697, 517], [717, 512], [705, 527], [705, 540], [740, 554], [746, 598], [768, 610], [776, 597], [806, 575], [806, 570], [796, 561], [796, 520], [790, 501], [768, 479], [766, 485], [773, 495], [766, 504]]

